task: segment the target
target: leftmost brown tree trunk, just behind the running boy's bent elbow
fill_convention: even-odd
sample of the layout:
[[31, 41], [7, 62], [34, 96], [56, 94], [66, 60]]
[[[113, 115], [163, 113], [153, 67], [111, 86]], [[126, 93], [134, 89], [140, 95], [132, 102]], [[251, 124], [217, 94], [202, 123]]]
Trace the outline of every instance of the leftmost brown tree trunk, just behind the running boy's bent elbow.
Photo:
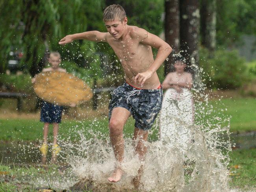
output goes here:
[[180, 8], [179, 0], [165, 0], [165, 41], [173, 48], [165, 61], [165, 76], [174, 71], [173, 54], [180, 51]]

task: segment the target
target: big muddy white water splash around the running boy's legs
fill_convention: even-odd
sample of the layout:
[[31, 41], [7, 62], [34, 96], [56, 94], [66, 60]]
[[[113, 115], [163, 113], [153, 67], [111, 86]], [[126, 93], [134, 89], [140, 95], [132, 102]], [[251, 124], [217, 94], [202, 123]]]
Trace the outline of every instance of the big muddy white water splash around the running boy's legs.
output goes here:
[[[198, 75], [200, 70], [197, 66]], [[136, 144], [130, 138], [125, 139], [124, 175], [118, 183], [109, 183], [107, 178], [115, 168], [115, 158], [108, 137], [102, 133], [93, 133], [85, 137], [80, 133], [78, 144], [66, 144], [69, 154], [67, 162], [82, 181], [91, 181], [99, 191], [134, 190], [132, 179], [137, 175], [141, 164], [144, 170], [139, 186], [140, 191], [175, 192], [227, 192], [229, 162], [231, 150], [228, 117], [216, 113], [209, 102], [210, 96], [204, 94], [206, 87], [197, 81], [196, 89], [191, 90], [195, 99], [195, 124], [177, 119], [176, 126], [182, 130], [170, 138], [145, 142], [148, 148], [144, 162], [134, 153]], [[216, 113], [217, 115], [212, 115]], [[208, 118], [211, 114], [212, 118]], [[166, 119], [168, 121], [168, 118]], [[158, 123], [154, 129], [158, 129]], [[181, 139], [181, 138], [186, 138]]]

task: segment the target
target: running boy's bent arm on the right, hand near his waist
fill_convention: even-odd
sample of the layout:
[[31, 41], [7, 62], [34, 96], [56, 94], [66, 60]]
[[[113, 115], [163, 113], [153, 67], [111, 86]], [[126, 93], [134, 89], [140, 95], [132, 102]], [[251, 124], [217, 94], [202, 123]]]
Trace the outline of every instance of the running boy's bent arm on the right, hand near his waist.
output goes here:
[[150, 78], [154, 74], [154, 72], [156, 72], [156, 70], [162, 65], [162, 63], [169, 56], [169, 54], [171, 54], [172, 48], [160, 37], [153, 35], [152, 33], [149, 33], [144, 29], [137, 28], [135, 34], [137, 35], [137, 38], [141, 40], [141, 43], [158, 49], [156, 58], [154, 59], [154, 62], [152, 63], [152, 65], [150, 65], [148, 70], [142, 73], [138, 73], [137, 76], [135, 76], [134, 78], [135, 81], [138, 81], [140, 85], [143, 85], [145, 81]]

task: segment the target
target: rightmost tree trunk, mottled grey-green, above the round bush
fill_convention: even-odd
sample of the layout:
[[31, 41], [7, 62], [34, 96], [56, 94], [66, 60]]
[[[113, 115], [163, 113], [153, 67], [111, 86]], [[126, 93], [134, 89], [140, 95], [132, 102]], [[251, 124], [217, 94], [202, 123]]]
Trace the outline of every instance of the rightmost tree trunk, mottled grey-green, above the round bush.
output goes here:
[[202, 0], [200, 15], [202, 45], [214, 51], [216, 47], [216, 0]]

